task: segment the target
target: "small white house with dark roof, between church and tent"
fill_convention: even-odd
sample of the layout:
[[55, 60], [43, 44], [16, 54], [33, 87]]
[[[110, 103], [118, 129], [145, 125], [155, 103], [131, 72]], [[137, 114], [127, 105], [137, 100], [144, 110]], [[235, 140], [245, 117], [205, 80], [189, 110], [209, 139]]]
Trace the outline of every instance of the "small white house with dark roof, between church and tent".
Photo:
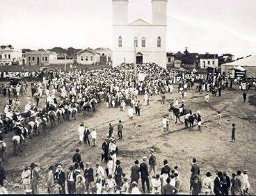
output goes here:
[[206, 69], [207, 67], [218, 66], [218, 55], [206, 53], [199, 55], [199, 68]]

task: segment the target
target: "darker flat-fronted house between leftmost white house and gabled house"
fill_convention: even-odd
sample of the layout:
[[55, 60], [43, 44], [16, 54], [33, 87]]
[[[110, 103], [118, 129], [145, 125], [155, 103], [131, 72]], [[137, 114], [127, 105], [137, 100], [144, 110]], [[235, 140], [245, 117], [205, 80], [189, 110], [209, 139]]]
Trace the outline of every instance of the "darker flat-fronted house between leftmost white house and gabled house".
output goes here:
[[38, 49], [26, 52], [26, 65], [50, 65], [57, 60], [57, 53], [49, 50]]

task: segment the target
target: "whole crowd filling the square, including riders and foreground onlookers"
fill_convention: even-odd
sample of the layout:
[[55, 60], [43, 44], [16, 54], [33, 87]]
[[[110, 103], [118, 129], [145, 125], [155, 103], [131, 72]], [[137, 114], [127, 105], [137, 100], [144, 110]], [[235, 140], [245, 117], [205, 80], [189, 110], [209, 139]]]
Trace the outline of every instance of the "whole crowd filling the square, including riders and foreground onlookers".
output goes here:
[[[230, 78], [220, 73], [218, 74], [197, 74], [194, 72], [179, 70], [172, 71], [163, 69], [156, 64], [145, 64], [138, 66], [138, 73], [143, 73], [145, 78], [140, 80], [134, 77], [132, 65], [128, 65], [128, 72], [122, 69], [122, 66], [112, 69], [97, 69], [91, 71], [73, 70], [64, 72], [63, 70], [55, 70], [46, 72], [43, 81], [32, 82], [31, 97], [27, 95], [27, 103], [23, 109], [20, 108], [19, 96], [26, 95], [27, 85], [18, 84], [16, 86], [6, 87], [13, 90], [14, 100], [8, 98], [4, 107], [4, 112], [1, 115], [1, 124], [6, 133], [14, 131], [12, 141], [14, 144], [14, 155], [17, 155], [17, 149], [22, 149], [21, 144], [27, 142], [26, 138], [32, 138], [33, 135], [39, 135], [39, 129], [42, 126], [43, 131], [47, 130], [47, 126], [53, 127], [56, 123], [61, 123], [63, 120], [69, 120], [69, 115], [76, 120], [76, 113], [82, 112], [84, 115], [89, 115], [90, 112], [96, 111], [96, 104], [105, 102], [107, 107], [120, 108], [120, 111], [125, 111], [128, 106], [128, 117], [133, 118], [135, 112], [140, 116], [142, 104], [138, 100], [138, 95], [143, 95], [143, 105], [150, 104], [149, 98], [153, 95], [160, 95], [162, 98], [161, 104], [166, 103], [166, 93], [174, 91], [174, 84], [177, 84], [177, 91], [180, 94], [180, 101], [175, 99], [171, 102], [172, 110], [170, 117], [176, 115], [175, 107], [179, 107], [178, 116], [185, 115], [185, 126], [190, 123], [190, 118], [194, 117], [198, 121], [198, 127], [201, 128], [201, 115], [197, 112], [192, 115], [191, 111], [185, 109], [185, 98], [188, 90], [196, 90], [197, 92], [212, 92], [213, 95], [221, 96], [221, 91], [232, 85]], [[18, 75], [19, 73], [15, 73]], [[125, 76], [125, 77], [124, 77]], [[126, 78], [126, 80], [124, 80]], [[18, 87], [17, 87], [18, 86]], [[18, 90], [17, 88], [22, 89]], [[12, 91], [11, 91], [12, 92]], [[17, 93], [19, 92], [19, 93]], [[6, 94], [3, 93], [3, 96]], [[45, 105], [39, 108], [41, 98], [45, 98]], [[209, 101], [209, 97], [206, 101]], [[221, 119], [221, 115], [218, 115]], [[186, 123], [187, 122], [187, 123]], [[165, 118], [162, 121], [163, 130], [168, 130], [169, 120]], [[122, 121], [119, 121], [117, 130], [118, 138], [122, 141], [122, 130], [124, 126]], [[79, 143], [87, 144], [95, 147], [97, 131], [88, 129], [87, 125], [81, 123], [78, 129]], [[81, 161], [79, 149], [76, 149], [76, 154], [73, 156], [74, 164], [70, 166], [69, 172], [64, 173], [61, 164], [49, 167], [48, 173], [48, 192], [49, 193], [65, 193], [65, 184], [67, 182], [68, 193], [140, 193], [138, 189], [138, 181], [141, 178], [143, 193], [145, 193], [145, 183], [147, 191], [152, 193], [171, 194], [177, 193], [180, 190], [180, 173], [178, 167], [173, 169], [168, 166], [168, 160], [164, 161], [164, 167], [161, 173], [157, 173], [156, 157], [154, 149], [151, 149], [151, 155], [143, 156], [140, 164], [139, 160], [134, 161], [134, 166], [131, 168], [130, 184], [129, 178], [122, 171], [121, 161], [118, 157], [118, 147], [116, 147], [116, 139], [113, 138], [113, 126], [109, 125], [109, 133], [106, 135], [105, 141], [102, 144], [102, 161], [106, 163], [104, 170], [100, 163], [93, 166], [86, 162], [86, 167]], [[90, 137], [92, 143], [90, 143]], [[6, 147], [3, 142], [3, 135], [0, 134], [0, 144]], [[148, 161], [147, 161], [148, 159]], [[149, 170], [148, 170], [149, 165]], [[210, 185], [207, 189], [204, 181], [201, 182], [199, 177], [199, 167], [196, 168], [196, 160], [193, 159], [191, 172], [193, 176], [190, 180], [190, 190], [193, 194], [196, 193], [226, 193], [222, 184], [226, 183], [224, 173], [217, 175], [220, 180], [221, 187], [217, 188], [214, 180], [214, 187]], [[95, 172], [94, 172], [95, 171]], [[153, 171], [153, 176], [151, 172]], [[240, 179], [239, 172], [234, 179]], [[220, 173], [219, 173], [220, 174]], [[232, 174], [233, 175], [233, 174]], [[1, 175], [0, 175], [1, 176]], [[37, 164], [32, 163], [29, 167], [26, 166], [23, 175], [24, 189], [31, 189], [32, 193], [38, 193], [39, 170]], [[25, 177], [24, 177], [25, 176]], [[67, 177], [66, 177], [67, 176]], [[207, 173], [207, 178], [210, 174]], [[220, 177], [221, 176], [221, 177]], [[238, 181], [231, 179], [231, 185], [239, 189], [241, 193], [247, 193], [250, 189], [249, 183], [244, 180], [248, 177], [240, 179], [240, 187]], [[224, 179], [224, 180], [223, 180]], [[151, 183], [150, 183], [151, 182]], [[201, 185], [200, 185], [201, 182]], [[209, 185], [209, 179], [205, 180]], [[246, 184], [246, 185], [243, 185]], [[151, 184], [151, 186], [150, 186]], [[235, 185], [234, 185], [235, 184]], [[216, 187], [216, 188], [215, 188]], [[204, 191], [207, 189], [207, 191]], [[209, 191], [210, 190], [210, 191]], [[216, 191], [219, 192], [216, 192]]]

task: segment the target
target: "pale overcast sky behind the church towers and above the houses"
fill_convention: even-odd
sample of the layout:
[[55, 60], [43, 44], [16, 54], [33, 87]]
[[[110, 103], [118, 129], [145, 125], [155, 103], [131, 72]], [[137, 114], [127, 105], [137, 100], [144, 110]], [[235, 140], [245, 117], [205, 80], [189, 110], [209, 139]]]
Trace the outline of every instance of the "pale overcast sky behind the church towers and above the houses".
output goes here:
[[[256, 0], [169, 0], [167, 51], [256, 54]], [[129, 0], [129, 21], [151, 22], [151, 0]], [[112, 48], [111, 0], [0, 0], [0, 45]]]

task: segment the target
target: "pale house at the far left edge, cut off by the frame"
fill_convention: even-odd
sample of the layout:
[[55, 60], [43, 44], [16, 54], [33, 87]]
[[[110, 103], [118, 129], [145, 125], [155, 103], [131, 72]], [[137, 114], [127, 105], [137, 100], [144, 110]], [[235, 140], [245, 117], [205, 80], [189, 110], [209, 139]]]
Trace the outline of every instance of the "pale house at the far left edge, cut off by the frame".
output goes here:
[[0, 65], [22, 64], [22, 51], [12, 45], [0, 46]]

